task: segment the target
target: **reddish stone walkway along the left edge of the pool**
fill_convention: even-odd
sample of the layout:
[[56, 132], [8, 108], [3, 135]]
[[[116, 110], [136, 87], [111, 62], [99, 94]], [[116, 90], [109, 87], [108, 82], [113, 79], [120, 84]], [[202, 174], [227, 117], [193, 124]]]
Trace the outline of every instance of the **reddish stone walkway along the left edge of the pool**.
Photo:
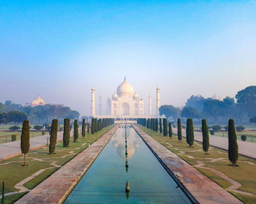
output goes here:
[[45, 181], [42, 181], [41, 184], [21, 197], [16, 203], [62, 203], [117, 129], [118, 125], [114, 126], [99, 140], [78, 154], [78, 156], [75, 156], [74, 159], [57, 170], [56, 173], [50, 175]]

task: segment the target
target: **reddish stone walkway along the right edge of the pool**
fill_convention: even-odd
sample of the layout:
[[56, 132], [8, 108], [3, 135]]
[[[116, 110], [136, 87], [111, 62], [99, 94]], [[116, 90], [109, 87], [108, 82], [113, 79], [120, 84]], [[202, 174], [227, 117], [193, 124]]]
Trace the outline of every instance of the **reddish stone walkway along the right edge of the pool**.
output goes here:
[[241, 204], [241, 201], [227, 192], [221, 186], [211, 181], [206, 175], [200, 173], [183, 159], [173, 154], [157, 140], [147, 135], [138, 126], [134, 125], [138, 134], [159, 156], [167, 168], [176, 175], [179, 181], [186, 187], [195, 199], [202, 204]]

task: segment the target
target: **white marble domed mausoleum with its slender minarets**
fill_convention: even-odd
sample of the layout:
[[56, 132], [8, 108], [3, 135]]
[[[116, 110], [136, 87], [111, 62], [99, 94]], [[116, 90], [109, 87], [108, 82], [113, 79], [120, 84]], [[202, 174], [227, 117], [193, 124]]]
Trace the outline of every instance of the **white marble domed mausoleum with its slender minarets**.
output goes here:
[[[156, 99], [156, 117], [159, 116], [159, 88], [157, 87]], [[148, 95], [148, 111], [144, 112], [144, 101], [138, 94], [135, 94], [134, 88], [127, 82], [124, 82], [116, 89], [111, 99], [108, 99], [107, 114], [102, 114], [102, 95], [99, 96], [99, 115], [95, 114], [95, 89], [91, 88], [91, 116], [93, 117], [111, 117], [111, 118], [148, 118], [152, 117], [151, 96]]]

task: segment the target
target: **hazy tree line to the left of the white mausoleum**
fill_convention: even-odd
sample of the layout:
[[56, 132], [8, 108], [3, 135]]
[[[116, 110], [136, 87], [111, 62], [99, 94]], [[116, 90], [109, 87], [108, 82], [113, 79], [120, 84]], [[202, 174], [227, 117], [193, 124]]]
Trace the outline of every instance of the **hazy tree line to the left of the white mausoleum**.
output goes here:
[[4, 104], [0, 103], [0, 123], [21, 123], [28, 119], [31, 123], [43, 124], [54, 118], [59, 119], [59, 121], [63, 121], [64, 118], [75, 119], [79, 118], [79, 113], [63, 105], [47, 104], [26, 107], [11, 101], [6, 101]]

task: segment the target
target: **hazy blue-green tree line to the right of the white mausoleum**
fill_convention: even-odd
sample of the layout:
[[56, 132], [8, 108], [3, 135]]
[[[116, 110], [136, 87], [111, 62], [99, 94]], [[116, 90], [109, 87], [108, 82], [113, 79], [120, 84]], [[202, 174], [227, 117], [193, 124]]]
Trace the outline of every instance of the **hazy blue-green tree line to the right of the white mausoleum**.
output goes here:
[[236, 94], [234, 98], [225, 97], [223, 100], [204, 98], [192, 95], [187, 99], [185, 107], [180, 109], [173, 105], [162, 105], [159, 108], [160, 116], [167, 118], [206, 118], [212, 123], [226, 123], [229, 118], [235, 118], [238, 123], [256, 124], [256, 86], [249, 86]]

